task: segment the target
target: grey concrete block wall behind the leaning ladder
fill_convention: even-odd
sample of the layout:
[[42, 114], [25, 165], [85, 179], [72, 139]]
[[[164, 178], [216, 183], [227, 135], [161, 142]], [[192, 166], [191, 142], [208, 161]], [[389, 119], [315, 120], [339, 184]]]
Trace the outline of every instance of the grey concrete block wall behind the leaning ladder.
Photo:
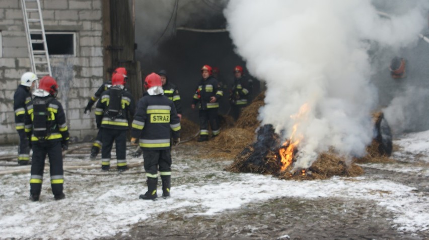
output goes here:
[[[76, 34], [76, 56], [51, 55], [58, 99], [66, 110], [70, 137], [95, 137], [94, 110], [84, 114], [89, 98], [103, 83], [101, 0], [40, 0], [46, 32]], [[0, 144], [16, 144], [13, 95], [19, 79], [30, 71], [21, 1], [0, 1]]]

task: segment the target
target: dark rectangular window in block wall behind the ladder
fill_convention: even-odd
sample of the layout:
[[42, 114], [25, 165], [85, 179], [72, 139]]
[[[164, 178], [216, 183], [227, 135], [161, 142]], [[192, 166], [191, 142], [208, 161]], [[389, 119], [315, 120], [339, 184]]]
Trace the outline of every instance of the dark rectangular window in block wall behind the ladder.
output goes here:
[[[46, 32], [49, 55], [76, 56], [76, 34], [69, 32]], [[42, 40], [41, 34], [32, 34], [31, 39]], [[44, 50], [43, 42], [33, 43], [33, 50]]]

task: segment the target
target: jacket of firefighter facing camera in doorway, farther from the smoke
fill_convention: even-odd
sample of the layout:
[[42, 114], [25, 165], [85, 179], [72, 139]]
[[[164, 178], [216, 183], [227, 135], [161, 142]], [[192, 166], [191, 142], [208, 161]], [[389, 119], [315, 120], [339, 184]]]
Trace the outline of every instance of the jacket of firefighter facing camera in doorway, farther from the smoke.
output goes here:
[[[219, 98], [224, 92], [219, 86], [215, 77], [209, 76], [207, 79], [201, 79], [193, 97], [193, 104], [200, 103], [199, 108], [202, 110], [208, 108], [218, 108]], [[210, 97], [216, 96], [216, 102], [210, 103]]]

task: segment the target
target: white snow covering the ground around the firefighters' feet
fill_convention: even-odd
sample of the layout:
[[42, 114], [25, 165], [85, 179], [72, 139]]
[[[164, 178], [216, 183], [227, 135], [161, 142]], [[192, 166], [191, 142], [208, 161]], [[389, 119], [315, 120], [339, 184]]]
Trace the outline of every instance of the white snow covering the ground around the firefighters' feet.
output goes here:
[[[394, 157], [415, 161], [412, 156], [425, 155], [419, 157], [419, 161], [427, 163], [428, 139], [429, 131], [405, 135], [395, 142], [402, 148]], [[394, 213], [392, 221], [398, 230], [416, 232], [429, 228], [427, 194], [398, 182], [374, 180], [368, 175], [285, 181], [259, 174], [230, 173], [223, 169], [231, 161], [196, 159], [189, 149], [184, 145], [173, 151], [172, 197], [158, 201], [138, 199], [138, 195], [146, 191], [145, 175], [141, 173], [112, 172], [108, 176], [65, 173], [66, 199], [55, 201], [50, 191], [49, 173], [45, 172], [39, 202], [28, 200], [29, 173], [0, 175], [0, 237], [91, 239], [112, 236], [119, 231], [126, 232], [131, 224], [163, 212], [180, 212], [189, 217], [220, 214], [250, 202], [279, 197], [371, 200]], [[0, 156], [15, 151], [16, 148], [1, 147]], [[83, 160], [67, 158], [64, 165], [74, 161], [82, 163]], [[99, 161], [91, 163], [97, 165]], [[392, 171], [399, 168], [395, 164], [369, 166]], [[401, 167], [400, 171], [415, 172], [416, 168], [423, 176], [429, 175], [427, 164], [408, 169]], [[0, 171], [6, 169], [11, 167], [0, 167]], [[98, 173], [100, 170], [81, 172]], [[158, 190], [161, 194], [160, 187]]]

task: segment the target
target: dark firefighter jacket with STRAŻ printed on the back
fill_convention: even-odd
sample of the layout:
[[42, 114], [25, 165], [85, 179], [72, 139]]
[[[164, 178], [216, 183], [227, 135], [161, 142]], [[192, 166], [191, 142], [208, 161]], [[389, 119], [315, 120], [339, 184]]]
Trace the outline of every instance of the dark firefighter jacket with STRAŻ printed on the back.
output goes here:
[[144, 151], [169, 149], [171, 132], [177, 139], [179, 130], [180, 118], [172, 100], [161, 94], [145, 95], [138, 100], [131, 137], [140, 138]]

